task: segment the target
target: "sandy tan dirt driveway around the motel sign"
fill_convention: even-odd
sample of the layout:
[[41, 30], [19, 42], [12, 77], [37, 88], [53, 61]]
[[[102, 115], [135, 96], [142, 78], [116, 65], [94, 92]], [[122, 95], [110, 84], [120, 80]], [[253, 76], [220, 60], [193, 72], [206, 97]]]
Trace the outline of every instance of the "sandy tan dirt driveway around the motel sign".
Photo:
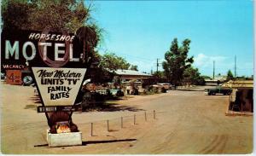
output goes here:
[[83, 146], [49, 148], [48, 125], [44, 113], [35, 110], [40, 104], [32, 87], [2, 84], [2, 153], [252, 153], [253, 117], [225, 116], [228, 96], [195, 90], [136, 96], [118, 101], [112, 110], [73, 113]]

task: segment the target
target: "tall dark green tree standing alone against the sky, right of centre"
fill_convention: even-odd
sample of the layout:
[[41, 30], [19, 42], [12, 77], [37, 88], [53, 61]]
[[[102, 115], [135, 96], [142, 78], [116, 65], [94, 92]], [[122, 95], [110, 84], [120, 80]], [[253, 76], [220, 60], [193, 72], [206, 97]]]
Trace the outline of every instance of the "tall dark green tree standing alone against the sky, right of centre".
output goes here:
[[175, 86], [183, 82], [183, 72], [194, 62], [193, 56], [188, 57], [190, 40], [185, 39], [179, 47], [174, 38], [170, 49], [166, 52], [162, 66], [166, 78]]

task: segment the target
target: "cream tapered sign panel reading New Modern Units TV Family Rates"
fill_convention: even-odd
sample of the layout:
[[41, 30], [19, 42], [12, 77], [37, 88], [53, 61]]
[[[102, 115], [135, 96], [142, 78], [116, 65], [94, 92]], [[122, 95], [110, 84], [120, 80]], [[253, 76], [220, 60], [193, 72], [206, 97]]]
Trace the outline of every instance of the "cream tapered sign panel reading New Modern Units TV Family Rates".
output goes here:
[[82, 84], [85, 68], [32, 67], [44, 106], [74, 104]]

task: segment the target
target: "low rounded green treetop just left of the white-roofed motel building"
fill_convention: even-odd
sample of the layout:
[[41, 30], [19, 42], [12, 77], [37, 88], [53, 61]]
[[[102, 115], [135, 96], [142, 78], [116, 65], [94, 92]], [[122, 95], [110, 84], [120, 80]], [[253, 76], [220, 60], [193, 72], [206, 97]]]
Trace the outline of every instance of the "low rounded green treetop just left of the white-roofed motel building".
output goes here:
[[101, 66], [108, 68], [109, 70], [129, 69], [130, 63], [125, 61], [123, 57], [113, 53], [106, 53], [105, 55], [102, 55]]

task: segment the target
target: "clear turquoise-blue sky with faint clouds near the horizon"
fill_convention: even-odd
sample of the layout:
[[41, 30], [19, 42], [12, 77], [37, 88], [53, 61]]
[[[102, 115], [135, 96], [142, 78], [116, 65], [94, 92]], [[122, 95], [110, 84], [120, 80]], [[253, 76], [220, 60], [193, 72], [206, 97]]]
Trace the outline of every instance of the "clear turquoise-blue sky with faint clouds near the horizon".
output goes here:
[[[202, 75], [253, 75], [253, 1], [94, 1], [91, 16], [104, 31], [100, 54], [113, 52], [156, 71], [173, 38], [191, 40], [189, 56]], [[159, 70], [163, 70], [161, 65]]]

